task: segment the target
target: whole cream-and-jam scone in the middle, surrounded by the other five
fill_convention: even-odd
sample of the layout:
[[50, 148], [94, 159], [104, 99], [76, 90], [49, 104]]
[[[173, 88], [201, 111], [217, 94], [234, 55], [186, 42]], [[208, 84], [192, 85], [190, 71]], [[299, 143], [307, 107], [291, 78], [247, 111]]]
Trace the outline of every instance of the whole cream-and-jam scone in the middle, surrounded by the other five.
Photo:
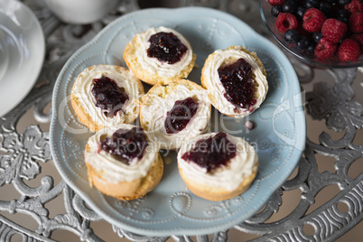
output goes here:
[[156, 84], [143, 97], [140, 125], [161, 148], [174, 150], [205, 132], [211, 105], [207, 90], [187, 80]]

